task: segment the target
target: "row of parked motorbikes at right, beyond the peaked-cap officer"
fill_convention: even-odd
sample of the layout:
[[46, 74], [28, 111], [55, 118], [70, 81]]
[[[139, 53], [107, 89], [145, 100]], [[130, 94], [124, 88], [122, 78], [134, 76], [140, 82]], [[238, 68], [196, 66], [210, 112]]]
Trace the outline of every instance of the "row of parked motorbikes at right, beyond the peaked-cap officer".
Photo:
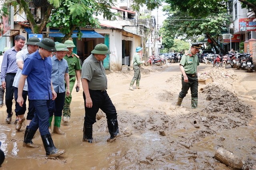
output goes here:
[[202, 61], [207, 65], [213, 64], [213, 66], [222, 66], [223, 68], [226, 68], [226, 66], [230, 64], [232, 68], [237, 68], [238, 70], [241, 68], [243, 70], [247, 70], [248, 72], [252, 72], [254, 65], [251, 55], [252, 54], [250, 53], [236, 53], [227, 55], [208, 54]]

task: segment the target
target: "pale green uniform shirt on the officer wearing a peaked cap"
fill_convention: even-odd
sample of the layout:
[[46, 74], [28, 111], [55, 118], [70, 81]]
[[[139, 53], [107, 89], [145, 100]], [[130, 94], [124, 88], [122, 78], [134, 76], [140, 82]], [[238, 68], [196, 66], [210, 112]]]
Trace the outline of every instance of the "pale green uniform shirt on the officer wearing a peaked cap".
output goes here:
[[197, 66], [199, 66], [199, 59], [197, 55], [192, 55], [189, 51], [181, 57], [180, 65], [184, 66], [185, 73], [196, 74]]

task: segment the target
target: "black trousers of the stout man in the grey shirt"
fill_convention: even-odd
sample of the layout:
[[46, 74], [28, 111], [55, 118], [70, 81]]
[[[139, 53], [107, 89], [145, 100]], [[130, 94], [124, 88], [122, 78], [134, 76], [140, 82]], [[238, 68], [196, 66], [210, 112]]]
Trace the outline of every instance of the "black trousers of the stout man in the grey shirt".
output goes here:
[[100, 90], [89, 89], [89, 92], [92, 99], [92, 108], [86, 107], [86, 98], [83, 92], [85, 109], [84, 125], [93, 125], [96, 122], [96, 114], [99, 109], [106, 114], [108, 120], [117, 118], [116, 107], [110, 100], [106, 90], [101, 92]]

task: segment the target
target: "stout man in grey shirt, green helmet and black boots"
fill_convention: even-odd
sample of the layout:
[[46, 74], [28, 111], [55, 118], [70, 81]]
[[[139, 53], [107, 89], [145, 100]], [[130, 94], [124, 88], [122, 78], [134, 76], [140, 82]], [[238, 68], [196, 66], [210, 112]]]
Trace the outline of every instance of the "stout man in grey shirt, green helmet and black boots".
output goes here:
[[92, 125], [96, 122], [96, 114], [101, 109], [107, 117], [108, 131], [110, 133], [109, 142], [116, 139], [119, 133], [116, 107], [110, 100], [106, 89], [108, 88], [108, 79], [102, 61], [106, 55], [110, 54], [105, 44], [95, 46], [92, 54], [84, 61], [82, 65], [81, 82], [84, 97], [84, 129], [83, 141], [92, 143]]

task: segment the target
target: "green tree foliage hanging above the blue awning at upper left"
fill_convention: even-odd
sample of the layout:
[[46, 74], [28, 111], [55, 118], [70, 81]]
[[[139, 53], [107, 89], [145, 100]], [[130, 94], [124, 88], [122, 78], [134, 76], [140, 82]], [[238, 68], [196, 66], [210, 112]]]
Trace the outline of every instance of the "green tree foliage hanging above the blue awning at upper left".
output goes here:
[[71, 37], [72, 32], [77, 29], [78, 39], [81, 39], [82, 32], [80, 27], [97, 27], [100, 28], [98, 19], [94, 16], [103, 14], [107, 20], [115, 20], [114, 14], [110, 11], [111, 6], [114, 6], [112, 0], [49, 0], [55, 10], [52, 12], [47, 27], [60, 28], [60, 31], [65, 35], [62, 41], [66, 41]]

